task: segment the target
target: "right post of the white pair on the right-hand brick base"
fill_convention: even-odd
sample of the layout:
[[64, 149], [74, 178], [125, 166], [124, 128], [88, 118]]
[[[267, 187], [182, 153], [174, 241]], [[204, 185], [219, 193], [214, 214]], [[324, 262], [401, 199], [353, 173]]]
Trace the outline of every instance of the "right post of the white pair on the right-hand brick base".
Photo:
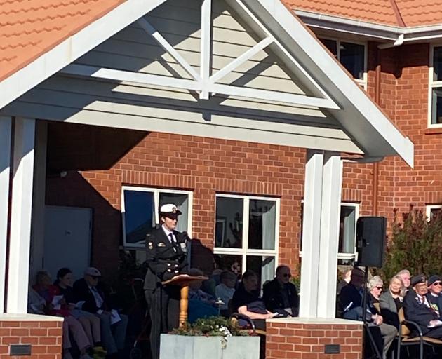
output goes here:
[[342, 191], [340, 154], [326, 152], [323, 164], [321, 245], [319, 248], [319, 318], [335, 318], [337, 252]]

